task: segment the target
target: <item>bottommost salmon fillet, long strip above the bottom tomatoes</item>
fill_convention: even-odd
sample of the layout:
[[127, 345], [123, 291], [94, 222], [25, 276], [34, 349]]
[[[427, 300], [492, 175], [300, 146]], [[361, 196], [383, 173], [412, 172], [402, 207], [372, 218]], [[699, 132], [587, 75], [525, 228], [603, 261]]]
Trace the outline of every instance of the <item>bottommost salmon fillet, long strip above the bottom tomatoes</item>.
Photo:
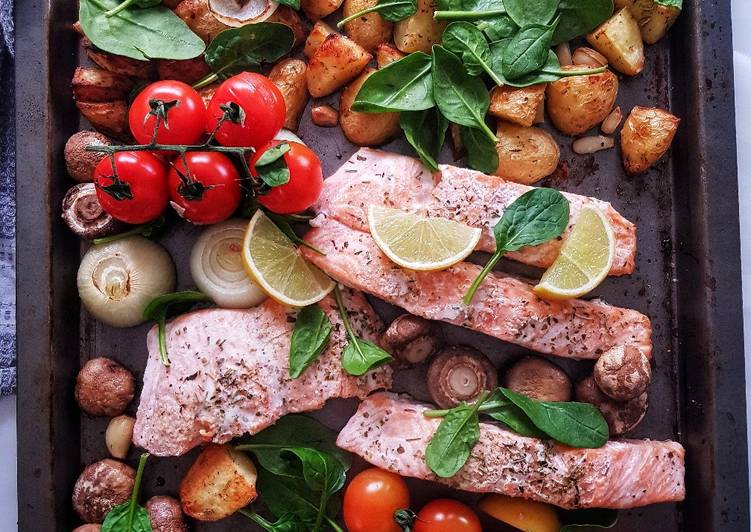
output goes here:
[[574, 449], [492, 423], [480, 423], [480, 440], [464, 467], [451, 478], [438, 478], [425, 464], [425, 448], [440, 424], [422, 415], [429, 408], [405, 396], [374, 394], [336, 443], [399, 475], [562, 508], [625, 509], [685, 497], [685, 451], [678, 443], [614, 440], [599, 449]]

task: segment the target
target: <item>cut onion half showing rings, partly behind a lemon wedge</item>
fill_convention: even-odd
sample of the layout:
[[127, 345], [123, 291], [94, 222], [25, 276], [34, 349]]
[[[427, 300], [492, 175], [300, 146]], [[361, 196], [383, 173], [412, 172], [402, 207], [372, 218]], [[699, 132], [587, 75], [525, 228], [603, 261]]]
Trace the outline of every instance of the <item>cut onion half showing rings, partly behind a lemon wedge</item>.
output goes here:
[[248, 278], [242, 263], [247, 220], [227, 220], [206, 229], [190, 253], [193, 282], [220, 307], [249, 308], [266, 293]]

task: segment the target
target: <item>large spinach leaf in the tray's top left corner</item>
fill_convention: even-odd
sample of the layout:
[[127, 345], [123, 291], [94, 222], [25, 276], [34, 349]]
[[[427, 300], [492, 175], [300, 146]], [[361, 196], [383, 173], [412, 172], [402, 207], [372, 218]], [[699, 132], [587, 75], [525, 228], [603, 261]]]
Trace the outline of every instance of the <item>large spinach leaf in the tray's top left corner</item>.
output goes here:
[[192, 59], [206, 45], [185, 22], [165, 6], [108, 11], [118, 0], [80, 0], [78, 19], [86, 37], [97, 48], [116, 55], [149, 59]]

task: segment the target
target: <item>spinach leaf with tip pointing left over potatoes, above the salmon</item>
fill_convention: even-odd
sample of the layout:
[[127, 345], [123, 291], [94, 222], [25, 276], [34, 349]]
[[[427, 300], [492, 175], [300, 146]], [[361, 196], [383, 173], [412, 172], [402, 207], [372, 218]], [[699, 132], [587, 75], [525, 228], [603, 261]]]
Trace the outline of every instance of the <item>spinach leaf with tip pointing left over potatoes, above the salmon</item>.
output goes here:
[[374, 72], [355, 96], [360, 113], [422, 111], [435, 106], [430, 56], [414, 52]]

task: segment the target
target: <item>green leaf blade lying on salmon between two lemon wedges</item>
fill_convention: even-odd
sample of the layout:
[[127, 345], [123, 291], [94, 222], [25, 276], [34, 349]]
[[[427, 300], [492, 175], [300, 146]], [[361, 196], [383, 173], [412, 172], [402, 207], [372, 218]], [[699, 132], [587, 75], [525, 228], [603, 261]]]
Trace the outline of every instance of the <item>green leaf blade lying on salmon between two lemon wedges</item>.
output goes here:
[[550, 188], [534, 188], [509, 205], [493, 228], [496, 251], [516, 251], [547, 242], [566, 230], [569, 204]]

